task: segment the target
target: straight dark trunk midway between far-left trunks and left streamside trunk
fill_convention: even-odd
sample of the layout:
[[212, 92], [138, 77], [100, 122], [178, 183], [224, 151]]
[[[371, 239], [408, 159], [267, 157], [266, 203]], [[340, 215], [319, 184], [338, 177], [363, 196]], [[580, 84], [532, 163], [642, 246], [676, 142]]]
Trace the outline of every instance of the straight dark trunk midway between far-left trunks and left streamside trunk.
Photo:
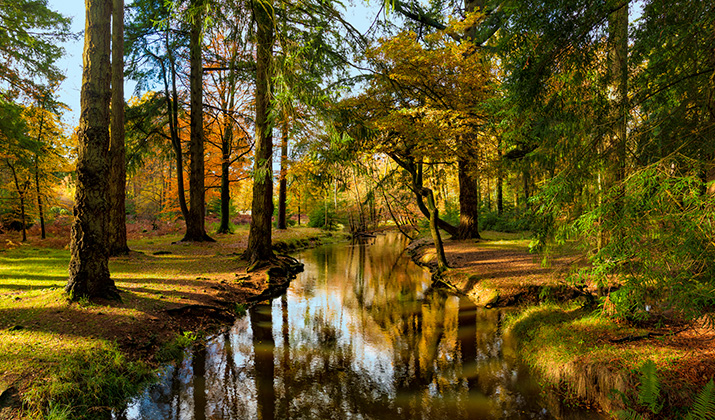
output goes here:
[[204, 213], [206, 209], [206, 191], [204, 189], [204, 113], [203, 113], [203, 78], [201, 59], [201, 27], [203, 15], [200, 13], [203, 0], [192, 0], [194, 9], [190, 30], [190, 67], [191, 67], [191, 137], [189, 154], [191, 155], [189, 172], [189, 218], [186, 219], [186, 234], [182, 241], [213, 241], [206, 234]]

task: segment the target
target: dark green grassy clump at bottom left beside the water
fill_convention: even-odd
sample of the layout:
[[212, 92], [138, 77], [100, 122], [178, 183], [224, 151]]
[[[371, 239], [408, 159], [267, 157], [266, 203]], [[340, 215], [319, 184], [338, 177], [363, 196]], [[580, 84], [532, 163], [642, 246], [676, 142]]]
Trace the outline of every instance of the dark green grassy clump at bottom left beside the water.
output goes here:
[[30, 413], [54, 419], [95, 419], [155, 379], [143, 363], [128, 361], [115, 347], [73, 353], [49, 378], [25, 394]]

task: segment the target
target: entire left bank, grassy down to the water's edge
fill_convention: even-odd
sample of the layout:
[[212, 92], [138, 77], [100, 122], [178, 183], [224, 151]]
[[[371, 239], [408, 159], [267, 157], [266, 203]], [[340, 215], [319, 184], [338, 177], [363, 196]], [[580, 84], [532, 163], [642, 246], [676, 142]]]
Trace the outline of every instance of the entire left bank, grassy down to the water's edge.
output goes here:
[[[265, 273], [245, 273], [247, 231], [201, 244], [133, 236], [132, 252], [110, 261], [121, 302], [68, 302], [67, 249], [3, 241], [0, 418], [97, 418], [150, 380], [183, 332], [230, 325], [236, 303], [267, 287]], [[342, 239], [311, 228], [274, 235], [280, 250]]]

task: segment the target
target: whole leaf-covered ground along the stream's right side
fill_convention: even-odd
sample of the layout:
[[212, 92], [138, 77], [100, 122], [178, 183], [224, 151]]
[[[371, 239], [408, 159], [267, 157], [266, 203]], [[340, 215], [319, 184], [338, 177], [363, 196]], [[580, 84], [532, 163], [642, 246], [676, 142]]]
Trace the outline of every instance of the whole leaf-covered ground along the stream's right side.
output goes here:
[[[543, 264], [520, 234], [483, 236], [444, 242], [450, 269], [442, 281], [486, 307], [518, 306], [507, 331], [519, 338], [525, 361], [545, 383], [561, 389], [563, 398], [611, 415], [625, 409], [650, 416], [645, 418], [678, 418], [715, 378], [715, 330], [702, 320], [686, 323], [667, 312], [641, 323], [602, 316], [607, 305], [586, 298], [595, 296], [596, 287], [579, 276], [588, 262], [578, 249], [563, 248]], [[436, 267], [430, 241], [412, 248], [414, 260]], [[575, 287], [573, 278], [582, 286]], [[651, 407], [660, 405], [658, 414], [638, 402], [645, 382], [640, 371], [648, 360], [660, 381], [660, 396]]]

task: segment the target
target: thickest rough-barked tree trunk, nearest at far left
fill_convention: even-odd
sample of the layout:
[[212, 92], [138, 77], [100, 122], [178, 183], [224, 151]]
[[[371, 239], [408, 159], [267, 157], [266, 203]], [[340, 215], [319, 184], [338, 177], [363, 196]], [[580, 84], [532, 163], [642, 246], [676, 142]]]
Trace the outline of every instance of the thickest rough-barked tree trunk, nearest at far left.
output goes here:
[[79, 148], [74, 223], [70, 242], [71, 299], [119, 298], [109, 276], [107, 180], [109, 175], [110, 36], [112, 0], [86, 0]]

